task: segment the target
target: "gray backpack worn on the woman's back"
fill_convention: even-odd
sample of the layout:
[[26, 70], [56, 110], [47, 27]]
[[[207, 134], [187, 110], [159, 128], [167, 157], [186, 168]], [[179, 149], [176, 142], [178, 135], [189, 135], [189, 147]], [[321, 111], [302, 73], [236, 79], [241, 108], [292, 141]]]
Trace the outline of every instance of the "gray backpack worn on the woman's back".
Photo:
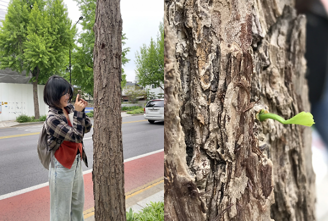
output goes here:
[[39, 135], [39, 140], [37, 142], [37, 154], [39, 156], [39, 159], [41, 161], [41, 164], [43, 167], [47, 170], [49, 170], [49, 164], [51, 162], [51, 167], [53, 168], [53, 156], [55, 155], [56, 150], [59, 148], [61, 143], [63, 141], [57, 140], [56, 145], [53, 148], [49, 148], [48, 146], [48, 134], [45, 130], [45, 122], [42, 126], [42, 131]]

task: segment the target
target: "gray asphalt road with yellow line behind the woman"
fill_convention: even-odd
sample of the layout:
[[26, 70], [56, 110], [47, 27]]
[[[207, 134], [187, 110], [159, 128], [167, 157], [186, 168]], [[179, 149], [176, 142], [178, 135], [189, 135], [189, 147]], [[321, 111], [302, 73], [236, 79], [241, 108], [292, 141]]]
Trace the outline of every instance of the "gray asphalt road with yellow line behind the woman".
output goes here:
[[[36, 143], [42, 124], [0, 128], [0, 196], [48, 182], [48, 170], [41, 165]], [[124, 159], [164, 149], [164, 122], [150, 124], [143, 115], [122, 118]], [[92, 133], [85, 134], [84, 146], [92, 169]]]

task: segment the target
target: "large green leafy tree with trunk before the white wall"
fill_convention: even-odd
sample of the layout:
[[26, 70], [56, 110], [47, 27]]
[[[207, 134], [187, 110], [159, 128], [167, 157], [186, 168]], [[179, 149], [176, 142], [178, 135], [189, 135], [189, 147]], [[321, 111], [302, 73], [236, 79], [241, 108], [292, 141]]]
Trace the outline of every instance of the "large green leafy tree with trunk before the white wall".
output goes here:
[[37, 84], [63, 71], [76, 32], [62, 0], [12, 0], [0, 29], [0, 68], [32, 75], [35, 119]]

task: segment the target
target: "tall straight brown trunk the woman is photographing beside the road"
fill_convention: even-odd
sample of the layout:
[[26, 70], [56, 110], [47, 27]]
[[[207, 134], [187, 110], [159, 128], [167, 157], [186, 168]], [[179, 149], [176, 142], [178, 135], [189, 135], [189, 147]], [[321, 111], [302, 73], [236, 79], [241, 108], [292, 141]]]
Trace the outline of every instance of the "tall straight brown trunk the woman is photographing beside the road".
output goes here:
[[96, 221], [125, 221], [121, 118], [120, 0], [97, 0], [94, 25], [94, 162]]

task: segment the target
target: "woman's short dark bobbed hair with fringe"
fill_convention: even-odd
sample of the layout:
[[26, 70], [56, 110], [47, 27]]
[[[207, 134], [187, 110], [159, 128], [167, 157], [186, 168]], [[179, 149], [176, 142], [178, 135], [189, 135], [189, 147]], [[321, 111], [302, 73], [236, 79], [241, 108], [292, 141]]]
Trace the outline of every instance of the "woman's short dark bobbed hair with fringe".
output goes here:
[[70, 102], [73, 97], [72, 85], [65, 78], [52, 75], [44, 86], [43, 101], [50, 107], [58, 108], [60, 106], [61, 96], [66, 93], [70, 94], [68, 100], [68, 102]]

